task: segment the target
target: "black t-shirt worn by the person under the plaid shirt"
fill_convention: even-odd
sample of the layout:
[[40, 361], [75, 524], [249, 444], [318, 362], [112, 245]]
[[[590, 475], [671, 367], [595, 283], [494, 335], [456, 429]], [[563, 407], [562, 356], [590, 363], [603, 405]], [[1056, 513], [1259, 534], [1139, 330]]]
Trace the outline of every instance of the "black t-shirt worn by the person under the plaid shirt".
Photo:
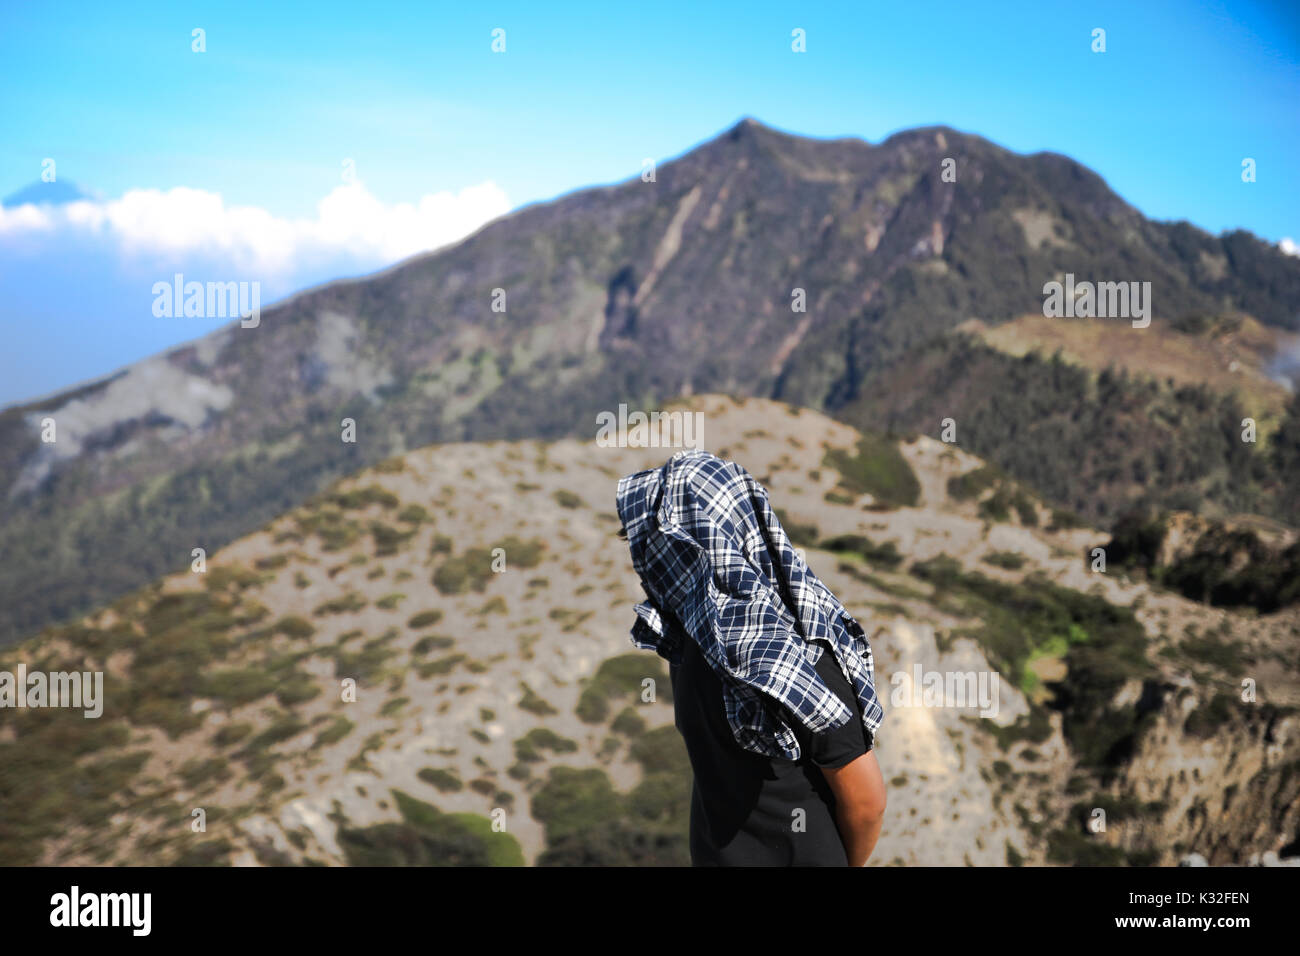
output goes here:
[[[848, 866], [835, 825], [835, 795], [820, 767], [841, 767], [871, 749], [862, 708], [835, 654], [823, 648], [816, 671], [853, 711], [842, 727], [811, 734], [783, 710], [800, 741], [797, 761], [764, 757], [736, 743], [722, 679], [689, 637], [670, 667], [677, 730], [686, 743], [690, 860], [696, 866]], [[798, 813], [802, 810], [802, 814]]]

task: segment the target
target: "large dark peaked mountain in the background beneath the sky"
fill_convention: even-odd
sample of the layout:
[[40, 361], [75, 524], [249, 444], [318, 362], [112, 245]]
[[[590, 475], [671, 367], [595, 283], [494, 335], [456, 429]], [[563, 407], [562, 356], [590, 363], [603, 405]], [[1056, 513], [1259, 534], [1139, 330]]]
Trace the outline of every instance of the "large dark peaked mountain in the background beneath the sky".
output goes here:
[[0, 412], [0, 643], [389, 455], [589, 436], [619, 403], [705, 390], [933, 437], [953, 419], [965, 450], [1101, 524], [1135, 506], [1294, 519], [1300, 399], [1283, 386], [1097, 369], [978, 334], [1041, 315], [1044, 284], [1067, 273], [1152, 284], [1148, 328], [1060, 321], [1104, 323], [1112, 352], [1174, 356], [1154, 367], [1222, 363], [1219, 338], [1247, 320], [1265, 356], [1300, 332], [1300, 259], [1149, 221], [1065, 156], [946, 127], [872, 146], [746, 120], [653, 182], [526, 207], [256, 328]]

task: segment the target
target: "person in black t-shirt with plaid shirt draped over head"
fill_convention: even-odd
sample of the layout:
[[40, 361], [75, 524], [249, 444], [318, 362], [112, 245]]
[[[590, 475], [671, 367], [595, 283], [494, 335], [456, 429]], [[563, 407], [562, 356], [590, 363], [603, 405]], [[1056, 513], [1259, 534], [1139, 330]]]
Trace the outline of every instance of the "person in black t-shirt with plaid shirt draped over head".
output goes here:
[[862, 866], [880, 836], [884, 713], [862, 627], [793, 549], [766, 489], [692, 450], [619, 481], [693, 771], [696, 866]]

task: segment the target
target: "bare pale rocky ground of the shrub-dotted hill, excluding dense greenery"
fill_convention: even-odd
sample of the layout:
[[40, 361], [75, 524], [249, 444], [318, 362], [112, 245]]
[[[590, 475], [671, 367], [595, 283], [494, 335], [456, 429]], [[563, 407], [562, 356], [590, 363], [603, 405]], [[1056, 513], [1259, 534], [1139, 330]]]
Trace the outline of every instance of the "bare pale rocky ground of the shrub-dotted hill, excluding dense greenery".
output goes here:
[[[1187, 853], [1212, 864], [1294, 853], [1297, 609], [1223, 611], [1092, 572], [1084, 553], [1104, 533], [1049, 529], [1050, 510], [1036, 501], [991, 518], [982, 512], [987, 496], [954, 498], [950, 480], [983, 464], [957, 446], [902, 442], [919, 496], [896, 507], [846, 486], [824, 460], [828, 450], [853, 454], [854, 429], [762, 399], [688, 401], [703, 416], [705, 447], [759, 477], [788, 529], [815, 525], [811, 540], [803, 536], [809, 563], [871, 636], [887, 713], [878, 756], [889, 783], [889, 821], [874, 862], [1087, 862], [1095, 848], [1160, 864]], [[204, 574], [173, 575], [10, 649], [9, 669], [18, 661], [101, 665], [110, 678], [103, 719], [125, 728], [88, 756], [73, 753], [62, 770], [47, 767], [48, 788], [81, 779], [104, 754], [140, 754], [107, 817], [82, 810], [75, 795], [51, 810], [58, 826], [40, 831], [36, 858], [191, 862], [187, 853], [203, 844], [242, 865], [343, 864], [341, 827], [396, 822], [393, 792], [402, 791], [443, 813], [495, 813], [524, 858], [536, 861], [547, 843], [530, 799], [549, 769], [599, 767], [627, 792], [642, 777], [636, 734], [611, 719], [632, 708], [646, 731], [672, 723], [666, 669], [628, 641], [641, 589], [614, 514], [618, 477], [671, 454], [580, 441], [419, 449], [208, 555]], [[845, 535], [892, 542], [902, 559], [864, 561], [818, 546]], [[994, 566], [985, 561], [991, 554], [1018, 558]], [[1061, 714], [1041, 706], [1043, 685], [1020, 682], [1022, 689], [998, 674], [971, 605], [911, 572], [941, 555], [963, 572], [1010, 584], [1036, 575], [1132, 610], [1154, 674], [1126, 683], [1114, 701], [1148, 713], [1126, 761], [1100, 774], [1079, 766]], [[160, 607], [172, 606], [166, 596], [191, 602], [176, 606], [192, 605], [199, 617], [161, 619]], [[220, 620], [204, 623], [208, 615]], [[183, 641], [196, 628], [218, 635], [218, 649], [205, 649], [185, 680], [142, 665], [148, 641]], [[1243, 662], [1239, 672], [1201, 644], [1199, 657], [1188, 653], [1188, 641], [1209, 635], [1222, 636], [1212, 650], [1227, 646]], [[188, 646], [178, 644], [176, 654]], [[168, 657], [166, 648], [155, 650]], [[582, 695], [602, 662], [628, 654], [644, 661], [633, 684], [654, 679], [655, 700], [615, 687], [608, 714], [584, 719]], [[922, 674], [989, 675], [996, 715], [905, 698], [918, 666]], [[1049, 683], [1066, 666], [1044, 653], [1032, 670]], [[355, 700], [344, 700], [348, 678]], [[1242, 679], [1256, 682], [1257, 704], [1235, 702]], [[1156, 687], [1164, 688], [1158, 701], [1143, 705]], [[151, 701], [151, 693], [165, 700]], [[1210, 706], [1225, 695], [1230, 702]], [[1046, 714], [1043, 734], [1011, 732], [1034, 704]], [[1210, 726], [1190, 722], [1197, 714]], [[0, 744], [23, 743], [25, 718], [5, 717]], [[525, 739], [534, 745], [521, 747]], [[14, 773], [0, 769], [0, 780]], [[29, 792], [48, 796], [39, 787]], [[1080, 801], [1109, 808], [1105, 831], [1074, 826]], [[191, 826], [196, 808], [208, 814], [202, 834]], [[5, 832], [0, 827], [0, 845]], [[1060, 836], [1071, 832], [1072, 840]], [[1069, 860], [1053, 853], [1062, 840], [1072, 847]]]

